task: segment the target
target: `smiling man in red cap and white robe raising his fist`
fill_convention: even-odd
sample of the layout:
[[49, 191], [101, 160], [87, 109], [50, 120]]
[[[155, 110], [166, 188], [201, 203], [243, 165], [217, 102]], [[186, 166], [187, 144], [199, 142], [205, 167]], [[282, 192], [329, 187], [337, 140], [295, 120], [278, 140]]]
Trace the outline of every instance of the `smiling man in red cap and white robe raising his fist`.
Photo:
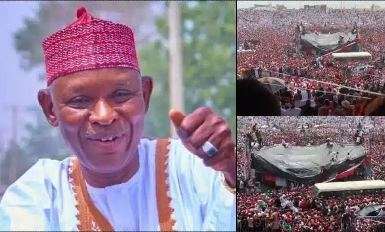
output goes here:
[[153, 88], [125, 25], [84, 8], [43, 41], [38, 100], [75, 157], [39, 160], [0, 205], [0, 231], [235, 231], [231, 130], [203, 107], [169, 117], [180, 140], [142, 138]]

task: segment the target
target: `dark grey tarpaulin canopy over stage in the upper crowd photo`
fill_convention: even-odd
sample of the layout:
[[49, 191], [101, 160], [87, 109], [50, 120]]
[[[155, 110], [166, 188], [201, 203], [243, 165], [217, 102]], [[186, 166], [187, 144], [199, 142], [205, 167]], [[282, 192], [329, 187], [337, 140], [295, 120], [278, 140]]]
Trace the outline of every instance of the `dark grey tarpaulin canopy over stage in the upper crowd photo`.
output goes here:
[[[340, 37], [342, 42], [339, 43]], [[334, 50], [345, 47], [344, 51], [358, 51], [358, 44], [352, 44], [356, 40], [356, 34], [351, 33], [333, 33], [333, 34], [305, 34], [301, 37], [302, 50], [314, 50], [320, 55], [327, 54]], [[349, 46], [351, 44], [352, 46]]]

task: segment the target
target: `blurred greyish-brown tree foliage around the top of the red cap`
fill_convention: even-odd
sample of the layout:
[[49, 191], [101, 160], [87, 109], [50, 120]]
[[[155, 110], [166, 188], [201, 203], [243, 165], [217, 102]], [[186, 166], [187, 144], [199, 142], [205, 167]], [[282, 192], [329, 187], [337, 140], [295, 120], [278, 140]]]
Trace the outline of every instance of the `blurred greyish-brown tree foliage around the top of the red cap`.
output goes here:
[[[24, 26], [14, 34], [14, 45], [21, 56], [21, 68], [29, 71], [44, 65], [42, 41], [76, 19], [76, 10], [85, 6], [104, 19], [124, 23], [132, 28], [139, 46], [146, 45], [154, 32], [152, 1], [40, 1], [34, 18], [25, 18]], [[143, 17], [146, 15], [146, 17]], [[141, 30], [145, 27], [147, 30]], [[44, 76], [42, 76], [44, 80]]]

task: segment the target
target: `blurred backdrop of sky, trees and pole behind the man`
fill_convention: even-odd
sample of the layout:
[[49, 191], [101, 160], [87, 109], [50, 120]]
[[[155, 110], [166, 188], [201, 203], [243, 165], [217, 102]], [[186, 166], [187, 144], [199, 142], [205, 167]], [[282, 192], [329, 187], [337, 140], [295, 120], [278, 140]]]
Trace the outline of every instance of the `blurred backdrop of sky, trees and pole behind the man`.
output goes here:
[[71, 155], [36, 95], [45, 87], [41, 42], [79, 6], [134, 31], [141, 73], [154, 77], [145, 136], [174, 136], [171, 107], [210, 106], [236, 138], [235, 1], [1, 1], [0, 198], [38, 159]]

